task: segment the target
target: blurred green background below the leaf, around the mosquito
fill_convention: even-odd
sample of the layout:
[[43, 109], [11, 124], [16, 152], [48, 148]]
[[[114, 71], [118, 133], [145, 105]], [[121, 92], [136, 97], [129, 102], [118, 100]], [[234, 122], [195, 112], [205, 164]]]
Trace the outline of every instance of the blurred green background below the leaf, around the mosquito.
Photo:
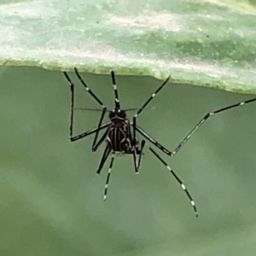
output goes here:
[[[108, 163], [92, 137], [70, 143], [69, 86], [60, 72], [0, 67], [0, 255], [255, 255], [256, 103], [212, 117], [172, 158], [162, 155], [195, 198], [199, 218], [172, 175], [148, 150], [139, 175], [117, 157], [102, 201]], [[70, 73], [76, 107], [96, 102]], [[83, 73], [113, 108], [108, 75]], [[161, 81], [117, 77], [123, 108], [140, 107]], [[208, 111], [253, 96], [167, 84], [138, 124], [173, 150]], [[75, 132], [96, 126], [80, 112]]]

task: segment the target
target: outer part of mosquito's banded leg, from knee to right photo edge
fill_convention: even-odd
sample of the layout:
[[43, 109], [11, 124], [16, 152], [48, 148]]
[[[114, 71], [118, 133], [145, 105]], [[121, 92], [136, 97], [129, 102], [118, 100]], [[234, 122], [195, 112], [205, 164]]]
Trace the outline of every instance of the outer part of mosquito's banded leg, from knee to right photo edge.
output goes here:
[[246, 104], [251, 103], [251, 102], [256, 102], [256, 98], [247, 100], [247, 101], [245, 101], [245, 102], [239, 102], [239, 103], [230, 105], [230, 106], [228, 106], [228, 107], [219, 108], [218, 110], [215, 110], [215, 111], [213, 111], [213, 112], [207, 113], [207, 114], [195, 125], [195, 127], [192, 129], [192, 131], [190, 131], [189, 134], [188, 134], [186, 137], [184, 137], [183, 141], [177, 145], [177, 148], [174, 149], [174, 151], [172, 152], [172, 155], [173, 155], [173, 154], [176, 154], [176, 153], [179, 151], [179, 149], [183, 147], [183, 144], [186, 143], [186, 142], [189, 140], [189, 138], [194, 134], [194, 132], [195, 132], [209, 117], [211, 117], [212, 115], [215, 115], [215, 114], [217, 114], [217, 113], [221, 113], [221, 112], [224, 112], [224, 111], [226, 111], [226, 110], [229, 110], [230, 108], [240, 107], [240, 106], [246, 105]]

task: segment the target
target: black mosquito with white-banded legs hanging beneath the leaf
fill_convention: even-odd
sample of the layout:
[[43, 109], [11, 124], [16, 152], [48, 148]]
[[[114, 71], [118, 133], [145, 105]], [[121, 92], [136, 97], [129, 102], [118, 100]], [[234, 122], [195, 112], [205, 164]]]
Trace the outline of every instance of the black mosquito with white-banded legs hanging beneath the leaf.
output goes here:
[[[156, 159], [160, 160], [160, 162], [166, 166], [166, 169], [172, 173], [172, 176], [176, 179], [177, 183], [181, 186], [183, 189], [185, 195], [188, 197], [191, 206], [193, 207], [193, 210], [195, 212], [195, 217], [198, 217], [197, 208], [195, 206], [195, 201], [193, 200], [192, 196], [189, 193], [189, 190], [186, 189], [185, 185], [183, 184], [182, 180], [177, 176], [176, 172], [172, 170], [170, 166], [166, 163], [165, 160], [163, 160], [160, 157], [160, 154], [157, 154], [156, 151], [151, 148], [148, 145], [149, 143], [152, 143], [156, 148], [159, 148], [160, 151], [163, 153], [172, 156], [174, 154], [177, 154], [177, 152], [183, 147], [183, 144], [186, 143], [189, 138], [194, 134], [194, 132], [213, 114], [217, 114], [220, 112], [223, 112], [224, 110], [228, 110], [230, 108], [236, 108], [242, 105], [245, 105], [250, 102], [256, 101], [256, 98], [253, 98], [251, 100], [247, 100], [245, 102], [239, 102], [234, 105], [220, 108], [216, 111], [207, 113], [196, 125], [195, 127], [189, 132], [189, 134], [183, 138], [183, 141], [177, 145], [177, 148], [175, 148], [173, 151], [169, 151], [167, 148], [165, 148], [162, 144], [158, 143], [153, 137], [149, 136], [146, 131], [143, 131], [143, 129], [137, 125], [137, 117], [139, 114], [143, 112], [143, 110], [148, 106], [148, 103], [151, 102], [154, 97], [164, 88], [164, 86], [167, 84], [171, 76], [169, 76], [162, 84], [160, 84], [159, 88], [154, 91], [154, 93], [149, 96], [148, 100], [143, 103], [141, 108], [129, 108], [129, 109], [122, 109], [120, 107], [119, 102], [119, 94], [117, 89], [117, 84], [114, 76], [114, 72], [111, 71], [111, 79], [113, 84], [113, 93], [114, 93], [114, 108], [113, 110], [108, 110], [108, 108], [105, 107], [105, 105], [102, 103], [102, 101], [93, 93], [92, 90], [85, 84], [84, 79], [80, 76], [77, 68], [74, 68], [75, 74], [78, 77], [81, 84], [84, 85], [84, 89], [88, 91], [90, 96], [92, 96], [95, 101], [102, 107], [102, 109], [90, 109], [90, 108], [74, 108], [74, 84], [72, 80], [69, 78], [66, 72], [64, 72], [64, 75], [67, 79], [67, 82], [70, 84], [71, 89], [71, 120], [70, 120], [70, 133], [69, 137], [71, 142], [78, 141], [79, 139], [82, 139], [84, 137], [88, 137], [92, 134], [95, 134], [94, 140], [91, 146], [91, 150], [95, 152], [103, 142], [106, 142], [106, 146], [104, 149], [104, 152], [102, 154], [102, 159], [100, 160], [100, 164], [98, 166], [98, 169], [96, 173], [100, 173], [102, 171], [102, 168], [105, 164], [105, 162], [108, 160], [109, 155], [111, 154], [111, 160], [108, 168], [108, 176], [105, 183], [105, 189], [104, 189], [104, 195], [103, 199], [106, 201], [107, 195], [108, 195], [108, 184], [111, 176], [111, 171], [113, 168], [113, 161], [115, 154], [131, 154], [133, 157], [133, 164], [135, 172], [138, 173], [140, 166], [141, 166], [141, 160], [143, 155], [143, 150], [145, 146], [148, 147], [149, 151], [156, 157]], [[99, 119], [98, 125], [96, 128], [90, 129], [89, 131], [85, 131], [79, 135], [73, 136], [73, 113], [74, 110], [92, 110], [92, 111], [98, 111], [101, 112], [101, 117]], [[137, 110], [137, 113], [135, 113], [132, 117], [132, 121], [127, 118], [126, 112], [130, 110]], [[107, 124], [102, 124], [103, 119], [108, 113], [109, 122]], [[105, 130], [102, 137], [98, 139], [99, 132]], [[141, 136], [143, 136], [143, 140], [139, 142], [137, 140], [137, 133], [139, 133]]]

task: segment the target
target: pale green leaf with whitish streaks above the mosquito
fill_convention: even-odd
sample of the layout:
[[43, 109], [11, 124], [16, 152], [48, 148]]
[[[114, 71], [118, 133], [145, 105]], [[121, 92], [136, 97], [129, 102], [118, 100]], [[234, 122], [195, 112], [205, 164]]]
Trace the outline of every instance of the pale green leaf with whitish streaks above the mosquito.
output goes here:
[[4, 65], [256, 92], [255, 1], [2, 1], [0, 22]]

